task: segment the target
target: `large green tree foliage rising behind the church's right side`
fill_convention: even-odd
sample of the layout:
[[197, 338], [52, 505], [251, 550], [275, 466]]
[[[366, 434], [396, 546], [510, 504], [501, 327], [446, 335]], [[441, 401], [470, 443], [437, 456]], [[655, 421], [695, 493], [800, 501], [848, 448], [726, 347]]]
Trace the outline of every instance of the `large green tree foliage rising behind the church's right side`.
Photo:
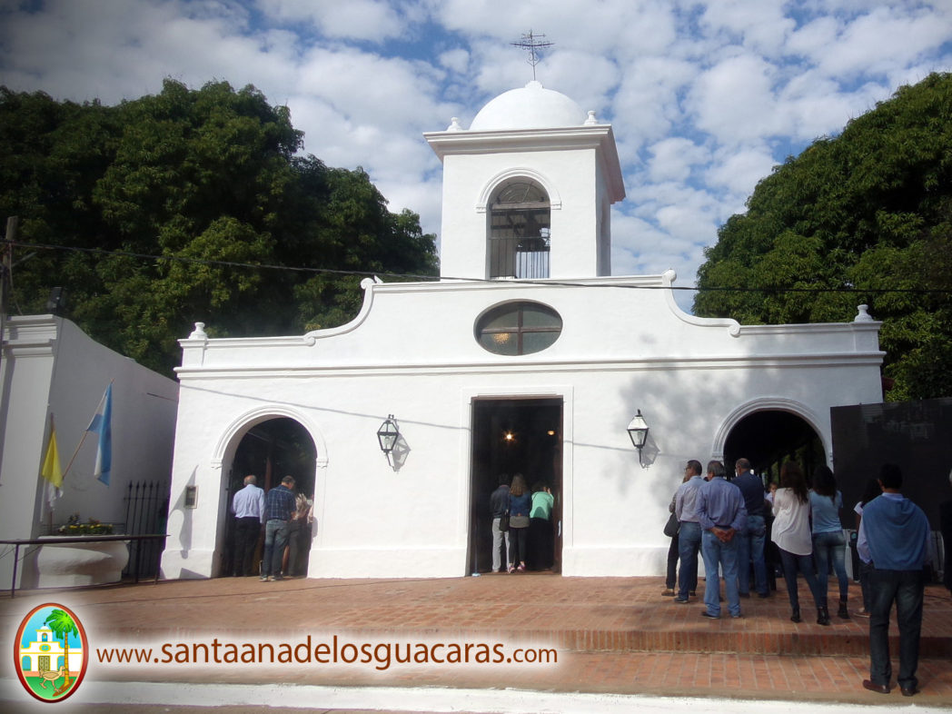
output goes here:
[[[883, 321], [888, 397], [952, 396], [952, 74], [899, 89], [788, 158], [705, 257], [696, 314], [844, 322], [865, 303]], [[874, 292], [897, 288], [931, 292]]]

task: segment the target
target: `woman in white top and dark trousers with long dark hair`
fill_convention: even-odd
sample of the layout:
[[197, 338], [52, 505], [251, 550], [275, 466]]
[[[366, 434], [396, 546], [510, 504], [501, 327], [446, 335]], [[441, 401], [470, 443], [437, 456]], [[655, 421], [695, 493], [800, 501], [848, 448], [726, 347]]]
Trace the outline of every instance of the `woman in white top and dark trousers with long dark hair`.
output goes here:
[[800, 617], [800, 597], [797, 593], [797, 571], [810, 586], [813, 602], [817, 605], [817, 625], [829, 625], [825, 593], [820, 591], [813, 569], [813, 537], [810, 531], [810, 496], [800, 466], [786, 462], [780, 471], [780, 488], [774, 494], [774, 524], [771, 539], [780, 550], [783, 580], [790, 598], [793, 614], [790, 620], [803, 622]]

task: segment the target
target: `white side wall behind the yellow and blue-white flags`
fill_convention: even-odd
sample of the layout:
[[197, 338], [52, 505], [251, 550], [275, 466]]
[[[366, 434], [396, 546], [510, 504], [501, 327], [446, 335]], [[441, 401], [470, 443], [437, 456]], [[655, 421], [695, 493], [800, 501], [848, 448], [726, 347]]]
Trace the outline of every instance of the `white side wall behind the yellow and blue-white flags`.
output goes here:
[[[125, 521], [123, 498], [129, 483], [169, 480], [178, 385], [92, 341], [63, 318], [12, 317], [5, 332], [0, 364], [0, 539], [29, 540], [48, 532], [50, 510], [40, 469], [50, 412], [64, 469], [76, 453], [55, 502], [53, 522], [64, 523], [77, 511], [84, 522], [90, 517], [104, 523]], [[90, 434], [78, 452], [76, 447], [110, 380], [112, 477], [105, 486], [92, 477], [95, 435]], [[0, 559], [0, 584], [10, 583], [12, 560], [12, 554]], [[22, 585], [29, 587], [34, 579], [28, 557]]]

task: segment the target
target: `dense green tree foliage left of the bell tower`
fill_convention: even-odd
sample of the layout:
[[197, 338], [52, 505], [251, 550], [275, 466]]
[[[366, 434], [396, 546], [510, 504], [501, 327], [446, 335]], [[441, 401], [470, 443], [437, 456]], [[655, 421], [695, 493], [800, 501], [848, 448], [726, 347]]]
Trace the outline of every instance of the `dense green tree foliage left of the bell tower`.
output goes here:
[[436, 274], [417, 214], [301, 146], [288, 109], [253, 87], [167, 80], [115, 107], [0, 88], [0, 218], [20, 216], [24, 242], [116, 251], [36, 250], [14, 269], [12, 311], [43, 312], [65, 287], [70, 319], [169, 373], [193, 322], [214, 336], [333, 327], [356, 314], [360, 277], [135, 255]]

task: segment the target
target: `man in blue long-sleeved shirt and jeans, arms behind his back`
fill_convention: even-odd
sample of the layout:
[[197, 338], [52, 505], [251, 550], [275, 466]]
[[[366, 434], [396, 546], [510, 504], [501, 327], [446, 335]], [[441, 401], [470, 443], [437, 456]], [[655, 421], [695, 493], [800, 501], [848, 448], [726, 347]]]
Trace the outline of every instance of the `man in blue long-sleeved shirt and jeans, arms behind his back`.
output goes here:
[[724, 464], [707, 464], [707, 483], [698, 489], [698, 523], [703, 530], [701, 555], [704, 558], [704, 605], [701, 614], [711, 620], [721, 617], [721, 579], [718, 567], [724, 570], [724, 590], [730, 616], [741, 617], [741, 597], [737, 589], [737, 544], [734, 536], [743, 533], [747, 522], [741, 489], [724, 478]]

